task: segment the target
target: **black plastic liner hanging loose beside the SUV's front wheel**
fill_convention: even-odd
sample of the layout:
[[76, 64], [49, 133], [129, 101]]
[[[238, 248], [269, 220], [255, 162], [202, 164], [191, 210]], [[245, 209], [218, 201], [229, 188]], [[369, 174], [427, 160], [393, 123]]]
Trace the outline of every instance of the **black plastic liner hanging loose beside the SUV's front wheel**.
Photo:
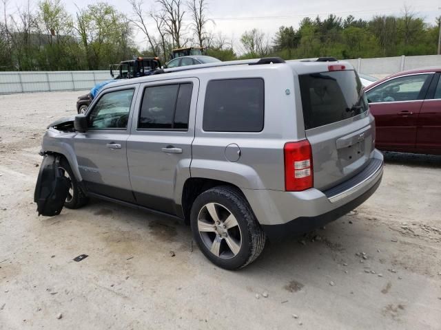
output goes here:
[[45, 155], [34, 192], [39, 215], [53, 217], [60, 214], [68, 196], [69, 185], [69, 179], [61, 175], [57, 158]]

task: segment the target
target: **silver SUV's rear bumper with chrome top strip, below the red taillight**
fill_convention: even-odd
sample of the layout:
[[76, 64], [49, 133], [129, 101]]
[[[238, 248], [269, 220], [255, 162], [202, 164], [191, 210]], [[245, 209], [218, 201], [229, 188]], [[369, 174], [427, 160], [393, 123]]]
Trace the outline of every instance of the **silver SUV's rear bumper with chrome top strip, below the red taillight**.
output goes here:
[[371, 163], [355, 177], [324, 192], [243, 189], [265, 233], [271, 238], [302, 234], [334, 221], [366, 201], [380, 186], [383, 156], [373, 152]]

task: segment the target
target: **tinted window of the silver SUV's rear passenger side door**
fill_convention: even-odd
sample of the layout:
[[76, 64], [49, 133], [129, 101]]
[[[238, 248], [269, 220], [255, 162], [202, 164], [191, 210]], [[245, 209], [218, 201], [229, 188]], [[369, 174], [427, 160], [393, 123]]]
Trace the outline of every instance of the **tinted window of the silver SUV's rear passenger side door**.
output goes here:
[[147, 87], [138, 129], [188, 129], [192, 83]]

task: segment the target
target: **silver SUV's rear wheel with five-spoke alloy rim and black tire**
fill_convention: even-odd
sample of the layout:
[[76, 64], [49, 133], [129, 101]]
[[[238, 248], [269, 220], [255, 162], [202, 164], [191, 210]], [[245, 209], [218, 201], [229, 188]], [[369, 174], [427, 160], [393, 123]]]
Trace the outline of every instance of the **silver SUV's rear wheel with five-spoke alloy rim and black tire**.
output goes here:
[[203, 254], [225, 270], [252, 263], [265, 247], [265, 233], [245, 197], [236, 188], [218, 186], [199, 195], [190, 223]]

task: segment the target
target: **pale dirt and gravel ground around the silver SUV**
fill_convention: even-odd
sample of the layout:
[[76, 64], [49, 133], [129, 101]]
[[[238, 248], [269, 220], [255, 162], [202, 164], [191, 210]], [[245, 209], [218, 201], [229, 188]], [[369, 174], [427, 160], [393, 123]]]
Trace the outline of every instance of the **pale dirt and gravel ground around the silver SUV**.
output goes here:
[[228, 272], [165, 217], [37, 217], [41, 135], [80, 94], [0, 96], [0, 329], [441, 329], [441, 157], [387, 153], [355, 212]]

